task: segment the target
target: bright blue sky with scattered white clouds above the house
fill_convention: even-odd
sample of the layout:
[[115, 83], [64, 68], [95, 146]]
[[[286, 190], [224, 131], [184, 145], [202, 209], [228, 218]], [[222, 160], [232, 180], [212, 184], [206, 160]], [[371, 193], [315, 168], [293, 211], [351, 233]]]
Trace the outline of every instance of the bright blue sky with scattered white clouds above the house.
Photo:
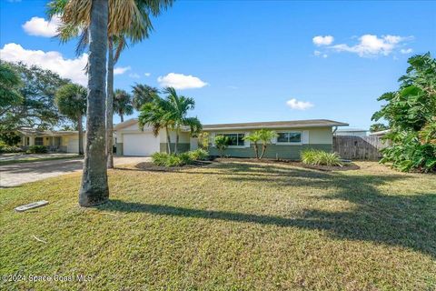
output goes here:
[[[33, 18], [45, 17], [46, 1], [0, 1], [2, 59], [85, 81], [75, 41], [59, 44], [49, 37], [55, 21]], [[435, 11], [430, 1], [178, 1], [124, 51], [115, 87], [175, 85], [203, 124], [328, 118], [369, 127], [407, 58], [436, 54]]]

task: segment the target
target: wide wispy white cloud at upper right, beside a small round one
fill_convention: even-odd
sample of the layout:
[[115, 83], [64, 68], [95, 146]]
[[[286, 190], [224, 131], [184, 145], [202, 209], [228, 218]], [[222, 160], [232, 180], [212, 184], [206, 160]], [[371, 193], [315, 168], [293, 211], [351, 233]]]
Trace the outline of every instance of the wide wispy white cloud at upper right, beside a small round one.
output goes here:
[[362, 35], [357, 45], [332, 45], [331, 48], [337, 52], [349, 52], [359, 56], [390, 55], [401, 43], [411, 38], [399, 35]]

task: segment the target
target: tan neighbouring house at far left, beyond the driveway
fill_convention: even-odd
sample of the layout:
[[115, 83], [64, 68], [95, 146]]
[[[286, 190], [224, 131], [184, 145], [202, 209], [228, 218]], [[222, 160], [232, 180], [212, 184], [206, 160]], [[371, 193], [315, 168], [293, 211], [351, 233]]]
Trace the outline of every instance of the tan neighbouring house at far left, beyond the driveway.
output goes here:
[[51, 152], [78, 153], [79, 134], [77, 131], [54, 131], [21, 129], [18, 130], [21, 142], [18, 146], [46, 146]]

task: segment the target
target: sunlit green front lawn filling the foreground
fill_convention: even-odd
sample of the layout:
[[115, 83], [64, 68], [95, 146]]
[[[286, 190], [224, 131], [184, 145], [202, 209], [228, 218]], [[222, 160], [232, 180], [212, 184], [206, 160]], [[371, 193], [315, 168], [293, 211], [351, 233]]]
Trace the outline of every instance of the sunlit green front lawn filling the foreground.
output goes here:
[[92, 276], [0, 289], [433, 290], [435, 176], [358, 165], [126, 166], [109, 172], [111, 201], [88, 209], [79, 173], [0, 189], [0, 274]]

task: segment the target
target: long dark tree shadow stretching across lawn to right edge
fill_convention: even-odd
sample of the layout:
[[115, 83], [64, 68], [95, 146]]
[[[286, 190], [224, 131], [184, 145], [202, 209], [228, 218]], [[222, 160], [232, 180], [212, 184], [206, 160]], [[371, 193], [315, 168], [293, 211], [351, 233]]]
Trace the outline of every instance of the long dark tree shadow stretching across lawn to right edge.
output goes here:
[[[253, 164], [240, 163], [220, 166], [219, 172], [209, 174], [223, 175], [226, 172], [229, 173], [223, 176], [223, 183], [253, 181], [253, 183], [262, 182], [263, 186], [307, 186], [320, 191], [333, 188], [334, 193], [322, 194], [321, 192], [319, 196], [310, 196], [307, 199], [320, 199], [326, 205], [332, 199], [343, 200], [351, 203], [353, 207], [347, 211], [306, 208], [298, 216], [292, 217], [129, 203], [122, 200], [112, 200], [98, 208], [109, 211], [325, 230], [329, 236], [337, 239], [403, 246], [436, 257], [436, 191], [430, 194], [402, 195], [389, 193], [389, 190], [386, 190], [387, 192], [379, 190], [379, 186], [389, 186], [395, 181], [410, 179], [410, 176], [392, 174], [347, 176], [342, 173], [321, 173], [295, 167], [253, 166]], [[199, 171], [198, 174], [204, 173]]]

